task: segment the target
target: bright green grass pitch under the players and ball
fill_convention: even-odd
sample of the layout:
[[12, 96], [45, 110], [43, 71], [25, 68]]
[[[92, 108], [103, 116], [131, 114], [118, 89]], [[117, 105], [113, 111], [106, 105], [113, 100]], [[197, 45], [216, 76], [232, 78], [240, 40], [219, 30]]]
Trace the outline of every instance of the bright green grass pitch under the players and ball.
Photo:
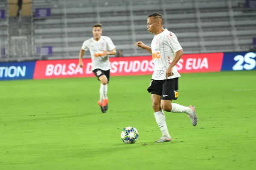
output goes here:
[[0, 82], [0, 170], [255, 169], [256, 71], [182, 74], [175, 102], [195, 105], [198, 125], [165, 112], [172, 142], [158, 144], [150, 78], [111, 77], [106, 114], [94, 77]]

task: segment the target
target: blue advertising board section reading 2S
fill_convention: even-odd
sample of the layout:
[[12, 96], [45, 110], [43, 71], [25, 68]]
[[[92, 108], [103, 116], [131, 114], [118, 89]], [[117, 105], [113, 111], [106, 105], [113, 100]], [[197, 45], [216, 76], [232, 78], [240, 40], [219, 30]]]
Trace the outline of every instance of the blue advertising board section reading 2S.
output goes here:
[[256, 51], [224, 53], [221, 71], [256, 70]]

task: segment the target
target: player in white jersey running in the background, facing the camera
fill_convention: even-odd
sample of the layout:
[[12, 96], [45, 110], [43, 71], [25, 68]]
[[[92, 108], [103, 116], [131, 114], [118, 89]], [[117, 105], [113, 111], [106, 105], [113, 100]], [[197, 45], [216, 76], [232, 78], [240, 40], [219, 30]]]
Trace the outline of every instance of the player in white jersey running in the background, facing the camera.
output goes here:
[[101, 34], [102, 25], [95, 24], [93, 26], [93, 38], [84, 41], [80, 50], [79, 65], [81, 68], [83, 67], [82, 57], [84, 55], [84, 51], [89, 49], [92, 58], [93, 73], [101, 82], [99, 89], [100, 99], [98, 104], [102, 113], [106, 113], [108, 110], [107, 92], [111, 69], [108, 55], [116, 54], [116, 46], [109, 37], [102, 36]]

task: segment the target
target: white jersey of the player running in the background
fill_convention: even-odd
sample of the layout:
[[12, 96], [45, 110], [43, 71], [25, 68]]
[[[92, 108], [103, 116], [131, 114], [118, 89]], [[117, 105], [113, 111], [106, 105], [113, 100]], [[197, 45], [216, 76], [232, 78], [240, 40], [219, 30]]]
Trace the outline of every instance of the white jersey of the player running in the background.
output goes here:
[[90, 38], [84, 41], [82, 45], [84, 51], [87, 51], [88, 49], [90, 50], [93, 63], [92, 70], [95, 70], [96, 68], [105, 71], [111, 69], [108, 55], [103, 56], [102, 53], [103, 51], [111, 51], [114, 48], [116, 48], [116, 46], [113, 44], [112, 40], [106, 36], [101, 36], [99, 41]]

